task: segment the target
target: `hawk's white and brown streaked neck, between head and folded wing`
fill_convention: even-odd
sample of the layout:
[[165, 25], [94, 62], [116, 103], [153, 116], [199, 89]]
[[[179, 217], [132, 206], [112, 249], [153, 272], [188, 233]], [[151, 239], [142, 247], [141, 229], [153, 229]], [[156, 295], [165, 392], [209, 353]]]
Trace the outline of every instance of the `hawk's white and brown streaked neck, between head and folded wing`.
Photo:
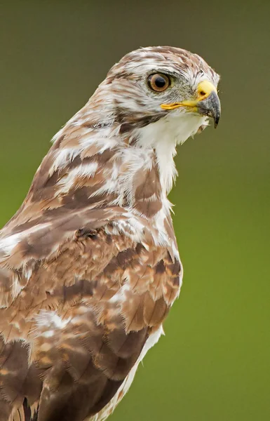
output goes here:
[[15, 219], [27, 222], [29, 209], [32, 219], [44, 211], [50, 218], [51, 213], [100, 206], [122, 206], [155, 223], [169, 217], [175, 147], [198, 131], [201, 119], [171, 114], [123, 126], [112, 115], [98, 121], [88, 109], [55, 135]]

